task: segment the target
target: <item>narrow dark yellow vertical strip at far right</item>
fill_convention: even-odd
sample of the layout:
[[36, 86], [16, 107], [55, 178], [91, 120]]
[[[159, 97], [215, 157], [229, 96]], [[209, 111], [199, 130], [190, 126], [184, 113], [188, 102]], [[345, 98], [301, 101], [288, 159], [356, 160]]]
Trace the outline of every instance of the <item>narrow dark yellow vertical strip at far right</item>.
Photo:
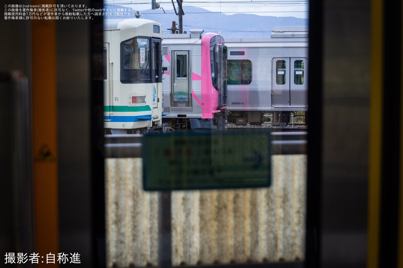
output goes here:
[[379, 266], [382, 171], [383, 1], [371, 0], [370, 148], [367, 268]]

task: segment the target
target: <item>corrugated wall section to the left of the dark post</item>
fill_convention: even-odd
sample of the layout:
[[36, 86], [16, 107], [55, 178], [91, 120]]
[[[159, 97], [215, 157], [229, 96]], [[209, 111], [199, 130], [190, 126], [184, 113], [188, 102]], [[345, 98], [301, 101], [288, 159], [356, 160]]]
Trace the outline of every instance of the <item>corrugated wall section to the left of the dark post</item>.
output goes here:
[[158, 265], [158, 193], [143, 191], [141, 158], [105, 163], [107, 267]]

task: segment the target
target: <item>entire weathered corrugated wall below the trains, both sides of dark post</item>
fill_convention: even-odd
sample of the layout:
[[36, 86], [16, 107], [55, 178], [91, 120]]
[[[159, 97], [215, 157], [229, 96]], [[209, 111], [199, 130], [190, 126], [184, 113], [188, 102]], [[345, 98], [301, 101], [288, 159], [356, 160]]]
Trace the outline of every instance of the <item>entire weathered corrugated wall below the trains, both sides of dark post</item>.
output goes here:
[[[107, 267], [158, 265], [158, 193], [142, 190], [141, 158], [106, 160]], [[172, 265], [301, 261], [306, 155], [272, 156], [272, 185], [173, 191]]]

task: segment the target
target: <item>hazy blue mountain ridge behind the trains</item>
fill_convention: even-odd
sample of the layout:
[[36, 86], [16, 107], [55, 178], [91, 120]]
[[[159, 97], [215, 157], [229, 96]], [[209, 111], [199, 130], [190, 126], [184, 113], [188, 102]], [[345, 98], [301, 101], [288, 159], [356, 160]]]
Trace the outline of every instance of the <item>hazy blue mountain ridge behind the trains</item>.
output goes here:
[[[124, 15], [128, 12], [127, 6], [105, 5], [104, 8], [113, 8], [125, 10], [120, 12], [119, 16], [108, 15], [104, 18], [125, 19], [135, 18], [133, 15], [135, 10], [130, 11], [129, 15]], [[308, 19], [295, 17], [274, 17], [274, 16], [258, 16], [255, 14], [233, 14], [227, 15], [220, 12], [211, 12], [203, 8], [193, 6], [184, 6], [183, 11], [183, 31], [189, 33], [190, 29], [204, 29], [204, 32], [218, 33], [221, 30], [221, 35], [224, 38], [268, 38], [274, 26], [307, 26]], [[178, 20], [174, 10], [162, 9], [143, 10], [141, 18], [157, 21], [162, 24], [164, 33], [170, 33], [168, 29], [172, 27], [172, 21]], [[132, 14], [133, 13], [133, 14]]]

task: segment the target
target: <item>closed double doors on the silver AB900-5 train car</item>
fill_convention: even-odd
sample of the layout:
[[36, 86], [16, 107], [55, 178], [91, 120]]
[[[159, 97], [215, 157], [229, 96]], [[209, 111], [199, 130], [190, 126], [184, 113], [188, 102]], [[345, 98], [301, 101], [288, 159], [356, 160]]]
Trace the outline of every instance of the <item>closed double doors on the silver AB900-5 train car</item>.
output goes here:
[[272, 105], [306, 107], [307, 58], [275, 57], [272, 59]]

